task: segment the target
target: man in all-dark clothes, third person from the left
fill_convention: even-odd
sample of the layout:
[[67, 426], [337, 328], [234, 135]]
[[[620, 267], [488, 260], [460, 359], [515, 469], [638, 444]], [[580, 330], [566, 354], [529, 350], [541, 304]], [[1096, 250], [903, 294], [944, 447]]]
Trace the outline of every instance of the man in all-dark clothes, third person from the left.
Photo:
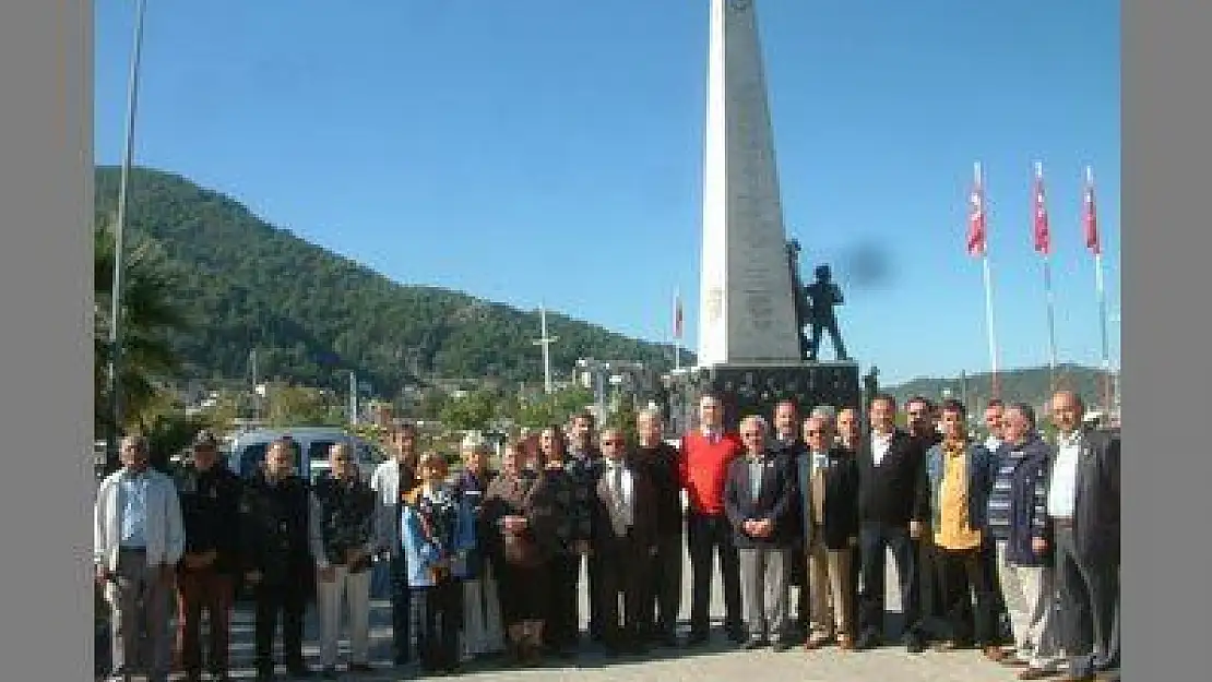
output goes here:
[[308, 548], [310, 493], [293, 474], [296, 446], [279, 439], [265, 453], [264, 470], [245, 488], [241, 512], [247, 541], [248, 583], [256, 586], [257, 680], [274, 676], [274, 630], [282, 618], [282, 649], [292, 677], [308, 677], [303, 663], [303, 611], [313, 563]]

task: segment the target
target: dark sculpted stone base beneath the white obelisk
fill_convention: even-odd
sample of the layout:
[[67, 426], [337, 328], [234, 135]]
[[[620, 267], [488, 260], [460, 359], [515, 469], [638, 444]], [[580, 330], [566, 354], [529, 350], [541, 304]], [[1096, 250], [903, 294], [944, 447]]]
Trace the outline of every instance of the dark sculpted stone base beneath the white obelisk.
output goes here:
[[771, 419], [774, 406], [794, 401], [801, 417], [817, 406], [861, 408], [863, 384], [856, 362], [799, 365], [719, 365], [675, 371], [667, 376], [670, 435], [697, 426], [698, 400], [714, 392], [724, 402], [724, 424], [734, 430], [741, 419], [760, 414]]

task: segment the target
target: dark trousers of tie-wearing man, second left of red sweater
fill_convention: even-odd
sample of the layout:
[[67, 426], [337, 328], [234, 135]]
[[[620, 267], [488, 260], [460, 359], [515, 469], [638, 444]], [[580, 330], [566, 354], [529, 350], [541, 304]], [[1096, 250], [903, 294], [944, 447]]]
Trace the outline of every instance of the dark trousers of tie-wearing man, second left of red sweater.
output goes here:
[[[612, 648], [642, 644], [647, 630], [644, 606], [650, 591], [652, 556], [630, 537], [602, 541], [599, 549], [602, 642]], [[618, 608], [619, 596], [623, 597], [622, 619]], [[647, 613], [651, 615], [651, 608]]]

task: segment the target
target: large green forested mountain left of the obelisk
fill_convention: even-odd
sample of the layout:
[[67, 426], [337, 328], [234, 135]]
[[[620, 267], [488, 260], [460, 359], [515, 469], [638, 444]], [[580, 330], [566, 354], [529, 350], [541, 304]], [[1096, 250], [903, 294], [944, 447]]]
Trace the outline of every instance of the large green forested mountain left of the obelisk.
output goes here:
[[[97, 168], [98, 224], [116, 211], [119, 179]], [[542, 378], [538, 311], [400, 285], [172, 173], [135, 170], [128, 191], [130, 247], [153, 250], [191, 323], [172, 339], [185, 378], [247, 380], [252, 351], [259, 378], [336, 388], [354, 369], [385, 396], [417, 376]], [[671, 366], [665, 345], [556, 313], [548, 327], [556, 369], [579, 357]]]

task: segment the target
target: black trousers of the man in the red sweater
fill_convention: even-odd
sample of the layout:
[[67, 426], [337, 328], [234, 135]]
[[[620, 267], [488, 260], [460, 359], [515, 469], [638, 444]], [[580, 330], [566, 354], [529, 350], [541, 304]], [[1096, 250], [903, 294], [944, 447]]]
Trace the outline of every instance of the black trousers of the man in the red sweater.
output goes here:
[[720, 577], [724, 580], [725, 629], [730, 635], [743, 635], [745, 627], [741, 613], [741, 564], [727, 517], [722, 514], [691, 514], [686, 520], [686, 545], [690, 550], [691, 571], [691, 632], [704, 635], [710, 626], [711, 555], [719, 554]]

